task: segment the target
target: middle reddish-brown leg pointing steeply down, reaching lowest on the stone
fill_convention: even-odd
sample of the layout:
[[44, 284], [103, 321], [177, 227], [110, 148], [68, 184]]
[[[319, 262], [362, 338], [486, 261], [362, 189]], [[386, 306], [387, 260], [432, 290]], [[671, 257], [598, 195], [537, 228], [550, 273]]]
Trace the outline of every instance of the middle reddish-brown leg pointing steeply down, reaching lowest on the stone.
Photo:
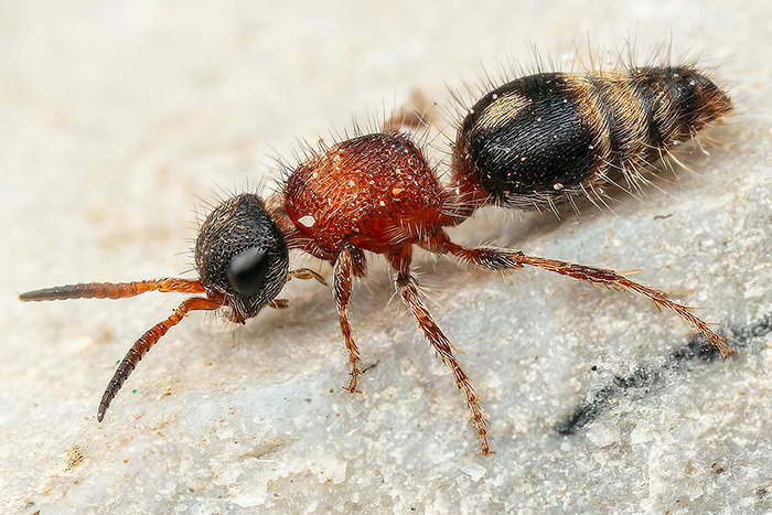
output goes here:
[[393, 257], [392, 264], [397, 269], [397, 277], [395, 279], [397, 291], [416, 318], [418, 326], [421, 329], [427, 340], [429, 340], [431, 346], [435, 347], [435, 351], [442, 362], [453, 371], [455, 384], [467, 398], [467, 406], [469, 406], [469, 410], [472, 412], [473, 425], [480, 437], [480, 453], [491, 454], [493, 451], [491, 451], [491, 447], [487, 443], [487, 419], [480, 406], [478, 395], [474, 393], [472, 382], [461, 369], [459, 362], [455, 361], [450, 340], [448, 340], [448, 336], [444, 335], [440, 326], [437, 325], [433, 316], [421, 301], [418, 280], [410, 273], [410, 248], [407, 247], [401, 255]]

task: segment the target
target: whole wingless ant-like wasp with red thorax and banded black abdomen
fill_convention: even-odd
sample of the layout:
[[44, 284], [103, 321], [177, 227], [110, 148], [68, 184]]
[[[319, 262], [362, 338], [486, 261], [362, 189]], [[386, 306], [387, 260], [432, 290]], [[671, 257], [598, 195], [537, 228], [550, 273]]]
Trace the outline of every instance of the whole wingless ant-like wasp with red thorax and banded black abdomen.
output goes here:
[[309, 269], [289, 269], [288, 253], [299, 249], [333, 265], [332, 290], [351, 374], [344, 388], [354, 393], [363, 366], [349, 316], [352, 279], [367, 272], [365, 251], [382, 254], [394, 269], [399, 297], [452, 371], [480, 451], [487, 454], [486, 416], [450, 340], [421, 299], [410, 268], [414, 246], [485, 270], [529, 266], [629, 290], [675, 312], [727, 357], [733, 351], [725, 339], [660, 290], [603, 268], [510, 248], [462, 247], [444, 229], [487, 204], [540, 208], [577, 195], [600, 197], [601, 186], [619, 178], [636, 184], [644, 167], [730, 109], [727, 94], [691, 67], [526, 76], [493, 89], [469, 110], [453, 146], [450, 184], [440, 183], [408, 133], [386, 122], [380, 132], [321, 147], [267, 202], [246, 193], [214, 208], [195, 243], [195, 280], [82, 283], [20, 299], [118, 299], [151, 290], [194, 294], [129, 350], [99, 404], [101, 421], [139, 361], [186, 313], [223, 308], [233, 322], [245, 323], [267, 305], [287, 307], [277, 296], [291, 278], [324, 282]]

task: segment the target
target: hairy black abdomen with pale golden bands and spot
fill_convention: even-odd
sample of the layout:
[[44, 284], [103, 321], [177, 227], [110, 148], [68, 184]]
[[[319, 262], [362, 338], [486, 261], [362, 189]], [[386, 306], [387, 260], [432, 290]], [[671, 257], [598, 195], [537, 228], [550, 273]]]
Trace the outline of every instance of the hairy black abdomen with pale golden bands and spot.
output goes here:
[[731, 108], [686, 67], [518, 78], [480, 99], [453, 151], [461, 193], [539, 208], [641, 169]]

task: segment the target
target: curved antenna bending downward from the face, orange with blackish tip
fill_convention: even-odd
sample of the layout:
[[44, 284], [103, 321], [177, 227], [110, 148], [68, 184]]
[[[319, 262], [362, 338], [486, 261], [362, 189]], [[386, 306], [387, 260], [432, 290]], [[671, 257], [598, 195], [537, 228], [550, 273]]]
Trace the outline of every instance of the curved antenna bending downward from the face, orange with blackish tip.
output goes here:
[[174, 310], [174, 312], [163, 322], [157, 323], [152, 329], [147, 331], [142, 336], [137, 340], [137, 342], [131, 345], [129, 352], [120, 362], [118, 368], [110, 379], [110, 384], [107, 385], [105, 394], [101, 396], [101, 401], [99, 403], [99, 409], [97, 410], [97, 420], [101, 422], [105, 418], [105, 412], [110, 406], [110, 403], [115, 398], [116, 394], [124, 383], [129, 377], [129, 374], [137, 367], [137, 364], [142, 360], [142, 357], [150, 351], [150, 348], [156, 345], [156, 343], [167, 334], [171, 328], [180, 323], [180, 321], [185, 316], [189, 311], [196, 310], [216, 310], [223, 305], [222, 299], [212, 298], [206, 299], [204, 297], [192, 297], [185, 299], [182, 303]]

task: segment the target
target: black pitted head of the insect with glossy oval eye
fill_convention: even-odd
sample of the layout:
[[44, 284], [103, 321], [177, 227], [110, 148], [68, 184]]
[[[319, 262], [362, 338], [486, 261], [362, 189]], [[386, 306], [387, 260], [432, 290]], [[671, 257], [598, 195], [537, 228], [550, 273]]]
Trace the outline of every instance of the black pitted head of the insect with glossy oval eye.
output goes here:
[[234, 196], [210, 213], [195, 242], [195, 266], [201, 285], [225, 296], [235, 322], [255, 316], [279, 294], [287, 283], [287, 244], [259, 196]]

